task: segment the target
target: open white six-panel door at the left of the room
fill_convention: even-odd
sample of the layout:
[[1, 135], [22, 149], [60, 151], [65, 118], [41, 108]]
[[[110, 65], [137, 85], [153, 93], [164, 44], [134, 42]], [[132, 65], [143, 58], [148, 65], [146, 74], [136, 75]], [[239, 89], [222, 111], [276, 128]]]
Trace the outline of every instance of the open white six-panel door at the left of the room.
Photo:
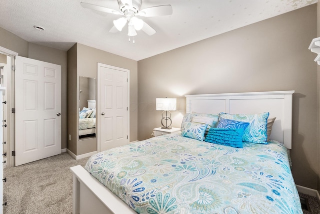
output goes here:
[[14, 165], [61, 153], [61, 66], [16, 57]]

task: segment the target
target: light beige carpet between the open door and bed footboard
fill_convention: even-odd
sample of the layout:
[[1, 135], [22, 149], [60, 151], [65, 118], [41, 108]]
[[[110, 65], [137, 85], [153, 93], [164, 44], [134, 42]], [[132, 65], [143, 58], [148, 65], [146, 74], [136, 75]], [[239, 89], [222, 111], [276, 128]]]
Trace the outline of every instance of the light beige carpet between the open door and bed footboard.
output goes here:
[[73, 159], [62, 153], [3, 170], [4, 214], [72, 213], [71, 166], [82, 165], [88, 158]]

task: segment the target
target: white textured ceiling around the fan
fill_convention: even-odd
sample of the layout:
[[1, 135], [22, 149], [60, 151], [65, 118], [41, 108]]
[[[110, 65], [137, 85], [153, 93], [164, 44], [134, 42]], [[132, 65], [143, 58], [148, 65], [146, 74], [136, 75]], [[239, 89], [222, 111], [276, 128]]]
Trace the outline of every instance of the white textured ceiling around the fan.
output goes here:
[[[109, 33], [118, 15], [84, 9], [80, 2], [118, 10], [116, 0], [1, 0], [0, 27], [35, 44], [67, 51], [75, 43], [133, 60], [145, 59], [227, 31], [262, 21], [317, 0], [142, 0], [141, 10], [171, 5], [163, 17], [139, 17], [156, 33], [137, 32], [128, 42], [127, 29]], [[33, 26], [40, 26], [38, 31]]]

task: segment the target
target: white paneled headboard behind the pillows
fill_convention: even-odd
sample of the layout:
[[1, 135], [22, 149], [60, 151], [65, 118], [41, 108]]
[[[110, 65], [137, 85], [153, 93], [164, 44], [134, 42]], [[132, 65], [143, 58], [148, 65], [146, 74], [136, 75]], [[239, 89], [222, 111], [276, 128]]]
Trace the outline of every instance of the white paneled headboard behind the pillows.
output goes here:
[[270, 139], [291, 149], [292, 94], [294, 91], [269, 91], [226, 94], [185, 95], [186, 112], [250, 114], [269, 112], [276, 117]]

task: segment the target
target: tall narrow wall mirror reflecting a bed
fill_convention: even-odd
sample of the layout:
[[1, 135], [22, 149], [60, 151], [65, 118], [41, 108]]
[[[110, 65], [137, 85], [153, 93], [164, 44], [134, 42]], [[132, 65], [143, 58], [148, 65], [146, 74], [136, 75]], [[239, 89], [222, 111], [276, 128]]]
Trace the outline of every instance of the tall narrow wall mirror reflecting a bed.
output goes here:
[[79, 79], [79, 139], [95, 138], [96, 97], [95, 78]]

